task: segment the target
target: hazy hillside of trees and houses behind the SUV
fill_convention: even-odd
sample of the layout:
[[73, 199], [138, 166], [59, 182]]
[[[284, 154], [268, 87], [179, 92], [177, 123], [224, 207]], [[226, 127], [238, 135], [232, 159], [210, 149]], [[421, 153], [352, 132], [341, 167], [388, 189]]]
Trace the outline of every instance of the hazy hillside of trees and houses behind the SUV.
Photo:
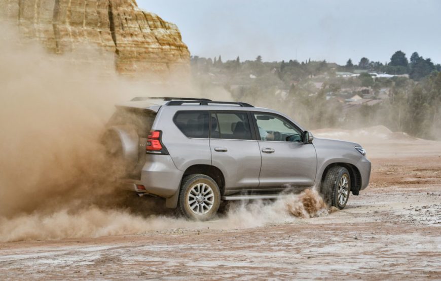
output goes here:
[[[191, 65], [202, 90], [223, 87], [236, 100], [280, 109], [309, 129], [385, 125], [392, 131], [441, 139], [441, 66], [417, 52], [410, 60], [397, 51], [389, 62], [372, 62], [364, 57], [357, 65], [350, 59], [346, 65], [311, 59], [266, 62], [262, 56], [225, 62], [220, 56], [194, 56]], [[354, 70], [361, 73], [356, 77], [337, 75], [339, 71]], [[369, 72], [409, 77], [376, 78]], [[388, 98], [345, 111], [342, 100], [347, 98], [348, 89], [361, 95], [356, 92], [360, 87], [370, 89], [373, 99], [387, 89]]]

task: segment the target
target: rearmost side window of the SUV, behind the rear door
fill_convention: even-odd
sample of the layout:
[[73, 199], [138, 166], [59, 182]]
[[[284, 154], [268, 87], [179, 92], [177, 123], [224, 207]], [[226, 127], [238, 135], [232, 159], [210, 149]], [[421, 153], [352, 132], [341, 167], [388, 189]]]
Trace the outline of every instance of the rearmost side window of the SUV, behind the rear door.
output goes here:
[[208, 111], [178, 111], [173, 122], [189, 138], [208, 138]]

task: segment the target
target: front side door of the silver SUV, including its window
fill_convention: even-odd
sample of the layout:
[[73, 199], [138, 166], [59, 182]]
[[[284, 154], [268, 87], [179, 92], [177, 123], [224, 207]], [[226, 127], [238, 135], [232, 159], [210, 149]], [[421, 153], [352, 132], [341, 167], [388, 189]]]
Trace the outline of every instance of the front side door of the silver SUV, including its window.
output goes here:
[[260, 189], [313, 185], [317, 156], [312, 143], [303, 143], [302, 130], [278, 114], [253, 112], [252, 117], [262, 155]]

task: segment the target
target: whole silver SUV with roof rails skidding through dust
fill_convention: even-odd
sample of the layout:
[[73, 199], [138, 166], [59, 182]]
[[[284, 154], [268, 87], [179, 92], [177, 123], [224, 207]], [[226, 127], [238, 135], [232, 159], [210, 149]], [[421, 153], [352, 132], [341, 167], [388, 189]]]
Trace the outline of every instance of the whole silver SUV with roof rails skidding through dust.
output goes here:
[[138, 97], [117, 105], [104, 139], [126, 188], [207, 220], [221, 200], [276, 198], [316, 186], [343, 209], [369, 184], [356, 143], [313, 138], [289, 116], [243, 102]]

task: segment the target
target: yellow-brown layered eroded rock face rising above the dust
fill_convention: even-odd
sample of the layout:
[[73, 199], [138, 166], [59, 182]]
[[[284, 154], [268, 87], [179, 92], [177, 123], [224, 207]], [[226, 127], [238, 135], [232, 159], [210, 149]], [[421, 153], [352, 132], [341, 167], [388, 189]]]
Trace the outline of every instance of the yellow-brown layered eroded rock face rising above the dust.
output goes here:
[[115, 53], [123, 74], [188, 71], [190, 53], [175, 24], [134, 0], [0, 0], [0, 18], [55, 53], [85, 44]]

